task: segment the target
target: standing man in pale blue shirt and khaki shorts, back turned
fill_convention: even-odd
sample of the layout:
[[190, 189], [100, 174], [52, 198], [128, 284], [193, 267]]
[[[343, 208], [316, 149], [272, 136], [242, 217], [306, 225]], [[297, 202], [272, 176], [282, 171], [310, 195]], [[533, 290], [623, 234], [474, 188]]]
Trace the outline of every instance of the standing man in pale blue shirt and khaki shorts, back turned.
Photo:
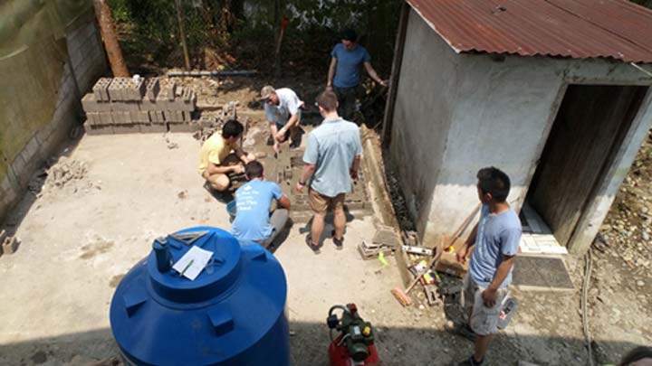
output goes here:
[[318, 254], [324, 218], [329, 207], [333, 211], [333, 243], [342, 249], [344, 240], [344, 195], [351, 191], [351, 178], [358, 178], [360, 168], [360, 128], [345, 121], [337, 112], [337, 96], [326, 90], [317, 97], [321, 117], [320, 127], [308, 135], [308, 143], [303, 154], [302, 176], [296, 189], [302, 192], [309, 183], [308, 194], [312, 210], [311, 235], [306, 238], [310, 248]]

